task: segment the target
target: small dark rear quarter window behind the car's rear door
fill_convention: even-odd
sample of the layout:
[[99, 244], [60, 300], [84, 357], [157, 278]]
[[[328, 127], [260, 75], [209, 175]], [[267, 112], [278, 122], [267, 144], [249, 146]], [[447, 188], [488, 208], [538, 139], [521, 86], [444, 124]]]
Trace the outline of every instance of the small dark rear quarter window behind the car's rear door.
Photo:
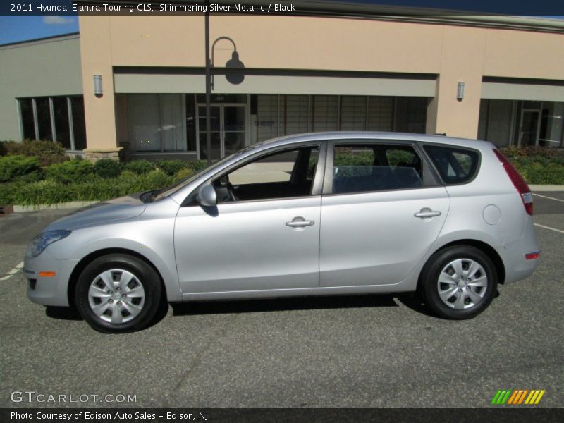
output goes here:
[[436, 145], [424, 149], [447, 185], [466, 183], [476, 176], [479, 154], [474, 150]]

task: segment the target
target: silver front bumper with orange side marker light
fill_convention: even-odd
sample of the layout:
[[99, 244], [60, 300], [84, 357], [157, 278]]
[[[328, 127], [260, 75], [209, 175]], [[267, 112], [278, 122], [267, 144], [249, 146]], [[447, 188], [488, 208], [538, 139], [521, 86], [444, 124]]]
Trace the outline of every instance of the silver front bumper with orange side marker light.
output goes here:
[[[26, 256], [23, 261], [27, 297], [37, 304], [68, 307], [68, 281], [79, 260], [54, 259], [47, 250], [37, 257]], [[55, 275], [39, 276], [39, 272]]]

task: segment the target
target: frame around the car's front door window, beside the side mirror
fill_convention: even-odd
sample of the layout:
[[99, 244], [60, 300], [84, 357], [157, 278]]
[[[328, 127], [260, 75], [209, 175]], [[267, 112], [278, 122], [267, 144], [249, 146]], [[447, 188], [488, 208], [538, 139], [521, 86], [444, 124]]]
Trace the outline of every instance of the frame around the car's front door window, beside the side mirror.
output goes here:
[[242, 168], [243, 166], [247, 166], [247, 164], [252, 163], [253, 161], [257, 161], [264, 157], [271, 156], [272, 154], [277, 154], [281, 152], [289, 152], [296, 149], [302, 149], [305, 147], [317, 147], [319, 149], [319, 153], [317, 155], [317, 166], [315, 169], [314, 178], [312, 180], [312, 192], [309, 195], [300, 195], [298, 197], [281, 197], [281, 198], [263, 198], [259, 200], [238, 200], [238, 201], [231, 201], [225, 203], [218, 203], [217, 205], [227, 205], [227, 204], [248, 204], [252, 202], [269, 202], [269, 201], [284, 201], [284, 200], [296, 200], [300, 198], [314, 198], [314, 197], [321, 197], [322, 190], [323, 190], [323, 180], [324, 180], [324, 173], [326, 168], [326, 158], [327, 158], [327, 142], [322, 140], [313, 140], [313, 141], [304, 141], [292, 145], [280, 145], [277, 147], [271, 147], [269, 149], [261, 150], [256, 152], [255, 154], [251, 154], [245, 159], [241, 159], [237, 161], [231, 166], [223, 168], [218, 173], [214, 173], [214, 175], [210, 176], [204, 182], [197, 185], [197, 187], [190, 192], [190, 194], [185, 198], [182, 205], [180, 207], [201, 207], [200, 203], [196, 201], [196, 197], [200, 189], [204, 185], [213, 185], [216, 180], [223, 178], [223, 176], [228, 175], [233, 171], [236, 171], [238, 168]]

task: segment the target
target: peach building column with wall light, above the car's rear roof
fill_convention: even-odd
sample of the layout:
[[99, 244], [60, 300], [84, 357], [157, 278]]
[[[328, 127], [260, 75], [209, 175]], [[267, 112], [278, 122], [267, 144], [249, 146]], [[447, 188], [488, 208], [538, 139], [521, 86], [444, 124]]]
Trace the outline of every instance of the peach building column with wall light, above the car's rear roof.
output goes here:
[[[485, 42], [481, 28], [443, 27], [441, 73], [427, 109], [427, 133], [477, 137]], [[465, 85], [462, 99], [457, 99], [458, 82]]]

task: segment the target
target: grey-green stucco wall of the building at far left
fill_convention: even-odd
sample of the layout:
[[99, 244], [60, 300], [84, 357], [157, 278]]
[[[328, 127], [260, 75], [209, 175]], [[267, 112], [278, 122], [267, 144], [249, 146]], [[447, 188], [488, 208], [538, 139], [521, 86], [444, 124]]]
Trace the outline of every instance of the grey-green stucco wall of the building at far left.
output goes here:
[[78, 35], [0, 47], [0, 140], [20, 140], [16, 97], [82, 94]]

